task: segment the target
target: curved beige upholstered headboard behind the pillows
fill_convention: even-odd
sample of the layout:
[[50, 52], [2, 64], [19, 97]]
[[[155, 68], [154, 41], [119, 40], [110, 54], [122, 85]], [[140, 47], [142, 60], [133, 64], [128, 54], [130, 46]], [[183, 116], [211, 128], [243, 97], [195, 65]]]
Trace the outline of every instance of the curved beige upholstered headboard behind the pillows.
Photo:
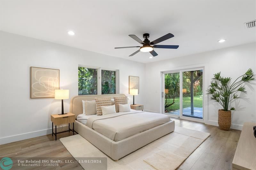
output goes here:
[[74, 96], [70, 100], [69, 112], [75, 114], [76, 116], [83, 113], [82, 100], [95, 100], [95, 98], [114, 98], [114, 97], [125, 97], [124, 94], [102, 94], [102, 95], [79, 95]]

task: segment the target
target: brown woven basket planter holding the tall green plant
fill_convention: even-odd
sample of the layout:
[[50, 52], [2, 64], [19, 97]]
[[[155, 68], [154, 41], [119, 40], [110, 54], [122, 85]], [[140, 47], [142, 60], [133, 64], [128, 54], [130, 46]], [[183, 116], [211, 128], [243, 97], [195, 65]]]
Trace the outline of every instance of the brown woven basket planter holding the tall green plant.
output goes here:
[[231, 126], [231, 111], [219, 110], [218, 124], [221, 130], [229, 130]]

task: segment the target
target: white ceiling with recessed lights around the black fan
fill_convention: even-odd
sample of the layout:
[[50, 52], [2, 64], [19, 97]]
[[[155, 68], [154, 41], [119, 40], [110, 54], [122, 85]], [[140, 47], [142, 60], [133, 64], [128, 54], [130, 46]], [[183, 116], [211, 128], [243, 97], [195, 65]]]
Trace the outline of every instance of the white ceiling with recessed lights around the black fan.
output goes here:
[[[36, 39], [81, 48], [142, 63], [154, 62], [256, 41], [256, 28], [244, 22], [256, 19], [256, 1], [3, 1], [0, 29]], [[75, 36], [67, 34], [74, 31]], [[167, 33], [163, 45], [128, 57], [139, 46], [130, 38], [149, 33], [153, 41]], [[227, 39], [218, 43], [219, 39]]]

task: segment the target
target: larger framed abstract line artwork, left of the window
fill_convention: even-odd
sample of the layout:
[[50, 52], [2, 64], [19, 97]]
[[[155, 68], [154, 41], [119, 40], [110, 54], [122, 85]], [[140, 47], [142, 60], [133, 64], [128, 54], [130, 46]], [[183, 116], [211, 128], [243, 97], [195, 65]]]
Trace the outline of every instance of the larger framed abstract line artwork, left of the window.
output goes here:
[[53, 98], [60, 89], [60, 70], [30, 67], [30, 98]]

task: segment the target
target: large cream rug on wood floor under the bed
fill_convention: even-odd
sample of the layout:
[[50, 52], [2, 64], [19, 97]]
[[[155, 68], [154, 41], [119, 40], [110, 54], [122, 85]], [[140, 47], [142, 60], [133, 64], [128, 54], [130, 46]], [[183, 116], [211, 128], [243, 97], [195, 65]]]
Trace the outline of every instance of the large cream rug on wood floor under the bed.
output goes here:
[[[175, 131], [114, 161], [80, 135], [61, 138], [61, 143], [76, 159], [81, 157], [106, 157], [108, 169], [158, 169], [174, 170], [209, 137], [209, 133], [175, 126]], [[86, 168], [86, 165], [80, 163]]]

